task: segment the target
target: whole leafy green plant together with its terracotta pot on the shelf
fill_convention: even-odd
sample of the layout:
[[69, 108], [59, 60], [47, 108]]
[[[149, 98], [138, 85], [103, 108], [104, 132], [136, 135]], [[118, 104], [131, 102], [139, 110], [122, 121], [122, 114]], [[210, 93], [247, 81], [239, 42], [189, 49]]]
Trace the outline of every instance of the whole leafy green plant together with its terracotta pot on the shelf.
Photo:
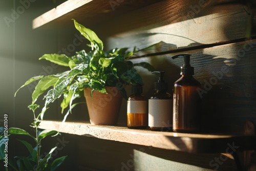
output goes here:
[[[30, 78], [22, 86], [39, 80], [32, 94], [32, 104], [37, 98], [48, 91], [45, 95], [45, 106], [41, 112], [41, 118], [47, 109], [49, 103], [63, 97], [61, 102], [63, 110], [70, 107], [71, 109], [78, 103], [72, 104], [73, 100], [79, 98], [84, 93], [88, 105], [93, 105], [89, 109], [90, 121], [92, 124], [116, 124], [122, 97], [127, 99], [124, 84], [142, 84], [141, 76], [137, 73], [135, 66], [141, 66], [149, 71], [153, 67], [147, 62], [133, 63], [129, 59], [136, 53], [127, 51], [128, 48], [116, 48], [108, 52], [103, 51], [103, 42], [98, 38], [95, 32], [82, 26], [74, 20], [75, 28], [90, 41], [90, 52], [82, 50], [76, 52], [74, 56], [65, 54], [45, 54], [39, 59], [46, 59], [60, 66], [68, 67], [65, 72], [56, 75], [36, 76]], [[20, 88], [22, 88], [20, 87]], [[103, 95], [103, 100], [99, 98]], [[99, 103], [97, 103], [99, 102]], [[113, 103], [111, 106], [110, 103]], [[110, 110], [104, 109], [109, 107]], [[93, 116], [93, 113], [96, 117]], [[112, 114], [112, 116], [107, 116]], [[98, 120], [95, 118], [99, 118]], [[113, 118], [113, 119], [111, 119]], [[106, 119], [103, 121], [102, 119]]]

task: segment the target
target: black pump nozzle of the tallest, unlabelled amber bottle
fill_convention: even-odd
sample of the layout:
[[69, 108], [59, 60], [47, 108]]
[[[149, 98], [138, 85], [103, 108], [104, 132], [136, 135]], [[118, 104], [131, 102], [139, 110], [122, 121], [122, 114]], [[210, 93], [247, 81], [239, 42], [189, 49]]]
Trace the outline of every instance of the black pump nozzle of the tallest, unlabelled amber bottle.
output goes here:
[[180, 75], [194, 75], [194, 67], [190, 66], [190, 56], [190, 54], [179, 54], [172, 57], [173, 59], [184, 57], [184, 64], [183, 67], [180, 68]]

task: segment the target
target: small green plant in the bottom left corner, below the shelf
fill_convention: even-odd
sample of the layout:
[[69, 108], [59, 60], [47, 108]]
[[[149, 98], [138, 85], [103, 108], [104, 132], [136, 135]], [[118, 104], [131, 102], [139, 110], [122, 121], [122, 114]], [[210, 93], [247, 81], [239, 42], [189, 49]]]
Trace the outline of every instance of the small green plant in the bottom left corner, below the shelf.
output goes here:
[[[8, 136], [4, 134], [5, 128], [1, 128], [1, 136], [0, 136], [0, 160], [4, 160], [4, 166], [5, 170], [15, 170], [15, 171], [53, 171], [56, 170], [61, 163], [65, 160], [67, 156], [59, 157], [55, 160], [52, 159], [52, 154], [54, 150], [57, 148], [57, 146], [53, 147], [48, 153], [44, 153], [44, 155], [41, 154], [41, 147], [42, 147], [42, 139], [48, 137], [48, 136], [57, 136], [59, 133], [54, 130], [43, 130], [39, 131], [39, 124], [40, 124], [40, 114], [36, 116], [35, 110], [39, 108], [38, 104], [29, 105], [28, 108], [33, 111], [34, 121], [31, 123], [31, 127], [35, 130], [35, 136], [29, 134], [27, 131], [23, 129], [19, 129], [17, 127], [10, 127], [8, 129]], [[25, 140], [20, 140], [18, 143], [22, 143], [26, 150], [28, 150], [29, 155], [28, 156], [15, 156], [11, 157], [8, 156], [8, 153], [6, 153], [6, 143], [9, 141], [9, 136], [12, 135], [23, 135], [26, 137], [30, 137], [33, 139], [34, 143], [33, 145]], [[34, 147], [33, 147], [34, 146]], [[25, 153], [25, 152], [24, 152]], [[6, 155], [8, 156], [7, 163], [5, 162]], [[52, 162], [51, 162], [52, 161]], [[3, 163], [3, 162], [1, 162]]]

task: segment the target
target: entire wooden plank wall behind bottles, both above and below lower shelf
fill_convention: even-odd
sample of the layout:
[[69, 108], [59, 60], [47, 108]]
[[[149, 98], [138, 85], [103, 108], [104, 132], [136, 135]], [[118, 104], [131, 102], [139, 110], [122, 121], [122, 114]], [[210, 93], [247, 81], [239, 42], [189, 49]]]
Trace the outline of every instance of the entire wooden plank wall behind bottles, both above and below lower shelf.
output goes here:
[[[256, 39], [253, 37], [256, 22], [254, 20], [252, 36], [246, 39], [249, 14], [248, 6], [237, 1], [162, 0], [124, 15], [116, 15], [91, 29], [103, 39], [107, 49], [144, 48], [163, 41], [162, 46], [151, 53], [168, 53], [147, 54], [133, 61], [148, 61], [157, 70], [164, 70], [170, 93], [183, 65], [182, 59], [173, 60], [171, 57], [182, 53], [193, 54], [191, 65], [195, 67], [195, 78], [204, 90], [200, 118], [202, 131], [240, 134], [243, 133], [245, 121], [256, 123]], [[81, 24], [87, 26], [86, 23]], [[65, 37], [72, 32], [72, 42], [77, 34], [75, 29], [59, 33], [59, 47], [67, 47], [61, 34]], [[84, 41], [81, 49], [85, 45]], [[143, 93], [149, 97], [154, 93], [157, 77], [140, 68], [138, 71], [145, 82]], [[126, 91], [131, 92], [131, 87], [126, 87]], [[81, 113], [79, 107], [77, 111], [73, 111], [70, 117], [81, 122], [86, 114]], [[125, 123], [126, 101], [123, 100], [119, 124]], [[211, 170], [215, 167], [210, 161], [220, 157], [220, 154], [191, 155], [94, 138], [71, 136], [70, 139], [73, 142], [70, 144], [75, 147], [72, 154], [76, 154], [72, 159], [78, 163], [80, 170]], [[146, 152], [140, 152], [141, 148]], [[130, 160], [133, 163], [127, 163]], [[122, 163], [133, 166], [124, 168]], [[229, 158], [218, 170], [236, 170], [234, 160]]]

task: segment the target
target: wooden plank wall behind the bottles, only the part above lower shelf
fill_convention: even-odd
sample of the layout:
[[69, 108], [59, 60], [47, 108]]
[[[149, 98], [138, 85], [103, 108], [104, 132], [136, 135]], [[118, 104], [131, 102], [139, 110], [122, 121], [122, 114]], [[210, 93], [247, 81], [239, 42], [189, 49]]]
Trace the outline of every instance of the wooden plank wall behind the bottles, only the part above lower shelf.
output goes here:
[[[108, 49], [144, 48], [163, 41], [151, 53], [168, 54], [133, 61], [148, 61], [164, 70], [170, 93], [183, 64], [182, 59], [171, 57], [193, 54], [191, 65], [202, 84], [202, 130], [236, 134], [243, 132], [245, 121], [256, 121], [256, 27], [253, 25], [252, 36], [246, 38], [249, 19], [250, 8], [236, 1], [165, 0], [112, 18], [96, 32], [105, 37]], [[145, 82], [144, 94], [150, 96], [156, 77], [138, 70]], [[125, 102], [121, 123], [125, 123], [124, 113]]]

